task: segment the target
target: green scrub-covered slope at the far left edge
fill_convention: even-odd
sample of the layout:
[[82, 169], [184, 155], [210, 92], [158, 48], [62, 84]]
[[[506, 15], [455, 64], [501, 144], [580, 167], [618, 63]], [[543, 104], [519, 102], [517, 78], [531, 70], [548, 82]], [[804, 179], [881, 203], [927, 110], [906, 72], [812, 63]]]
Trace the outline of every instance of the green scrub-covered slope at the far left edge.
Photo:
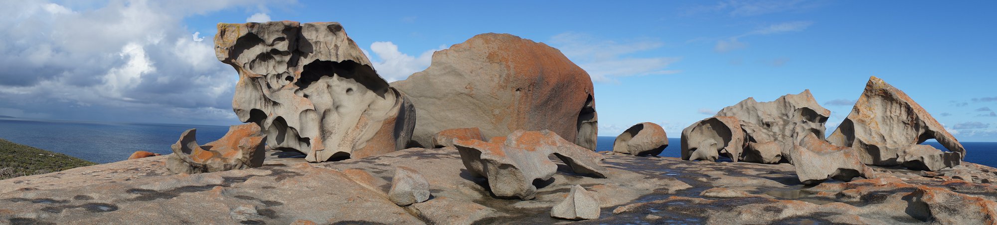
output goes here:
[[0, 179], [50, 173], [97, 163], [0, 139]]

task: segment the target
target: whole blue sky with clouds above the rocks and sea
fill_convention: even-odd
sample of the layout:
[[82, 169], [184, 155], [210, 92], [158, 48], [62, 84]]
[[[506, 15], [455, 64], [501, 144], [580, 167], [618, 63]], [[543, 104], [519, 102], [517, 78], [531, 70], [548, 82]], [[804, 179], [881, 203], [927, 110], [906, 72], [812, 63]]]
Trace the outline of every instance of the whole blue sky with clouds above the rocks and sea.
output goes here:
[[869, 76], [963, 141], [997, 141], [993, 1], [0, 1], [0, 114], [232, 124], [219, 22], [340, 22], [388, 80], [481, 33], [560, 49], [595, 82], [600, 135], [672, 137], [746, 98], [810, 89], [829, 132]]

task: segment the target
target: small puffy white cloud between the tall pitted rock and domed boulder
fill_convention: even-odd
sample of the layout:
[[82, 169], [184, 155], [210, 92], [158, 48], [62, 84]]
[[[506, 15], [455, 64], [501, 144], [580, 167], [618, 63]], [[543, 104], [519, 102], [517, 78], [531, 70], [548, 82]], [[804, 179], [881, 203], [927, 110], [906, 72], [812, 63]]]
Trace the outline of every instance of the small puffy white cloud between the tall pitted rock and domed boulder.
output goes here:
[[[419, 57], [409, 56], [398, 51], [398, 46], [392, 42], [374, 42], [371, 44], [371, 52], [377, 57], [374, 70], [378, 75], [388, 82], [401, 81], [409, 78], [410, 75], [426, 70], [433, 61], [433, 52], [437, 49], [429, 50], [420, 54]], [[369, 54], [364, 51], [364, 54]], [[370, 56], [370, 55], [368, 55]]]

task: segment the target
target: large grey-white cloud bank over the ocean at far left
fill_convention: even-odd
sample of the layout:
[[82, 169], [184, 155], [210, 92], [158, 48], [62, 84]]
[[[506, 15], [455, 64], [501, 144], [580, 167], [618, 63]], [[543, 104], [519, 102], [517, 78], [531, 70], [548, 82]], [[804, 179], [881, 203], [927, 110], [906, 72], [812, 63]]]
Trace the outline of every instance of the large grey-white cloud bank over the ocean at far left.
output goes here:
[[206, 116], [201, 118], [231, 123], [236, 74], [217, 62], [212, 44], [189, 31], [183, 19], [263, 3], [133, 0], [82, 9], [44, 1], [7, 4], [0, 14], [17, 16], [0, 17], [0, 106], [59, 118], [134, 112], [114, 119], [203, 122], [195, 117]]

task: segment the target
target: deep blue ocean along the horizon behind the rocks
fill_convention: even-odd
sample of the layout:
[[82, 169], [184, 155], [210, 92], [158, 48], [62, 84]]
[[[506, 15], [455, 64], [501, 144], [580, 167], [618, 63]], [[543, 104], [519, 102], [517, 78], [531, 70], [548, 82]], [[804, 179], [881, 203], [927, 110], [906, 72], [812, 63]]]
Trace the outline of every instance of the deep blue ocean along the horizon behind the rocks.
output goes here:
[[[137, 150], [172, 153], [169, 145], [188, 128], [197, 128], [200, 144], [218, 139], [228, 131], [228, 126], [223, 125], [0, 117], [0, 138], [97, 163], [125, 160]], [[612, 150], [615, 138], [599, 136], [596, 150]], [[679, 138], [668, 138], [668, 142], [660, 155], [679, 157]], [[925, 144], [944, 149], [935, 141]], [[997, 142], [962, 142], [962, 145], [968, 151], [963, 160], [997, 167]]]

